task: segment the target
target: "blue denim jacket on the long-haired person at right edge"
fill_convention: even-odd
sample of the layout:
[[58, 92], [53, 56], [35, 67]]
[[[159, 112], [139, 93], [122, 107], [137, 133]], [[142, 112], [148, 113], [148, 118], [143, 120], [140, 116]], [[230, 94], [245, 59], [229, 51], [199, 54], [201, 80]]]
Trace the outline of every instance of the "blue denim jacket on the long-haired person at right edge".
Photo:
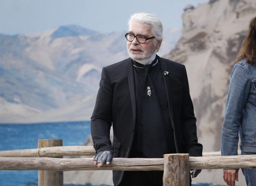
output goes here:
[[221, 155], [237, 155], [238, 133], [243, 152], [256, 153], [256, 63], [235, 64], [221, 134]]

